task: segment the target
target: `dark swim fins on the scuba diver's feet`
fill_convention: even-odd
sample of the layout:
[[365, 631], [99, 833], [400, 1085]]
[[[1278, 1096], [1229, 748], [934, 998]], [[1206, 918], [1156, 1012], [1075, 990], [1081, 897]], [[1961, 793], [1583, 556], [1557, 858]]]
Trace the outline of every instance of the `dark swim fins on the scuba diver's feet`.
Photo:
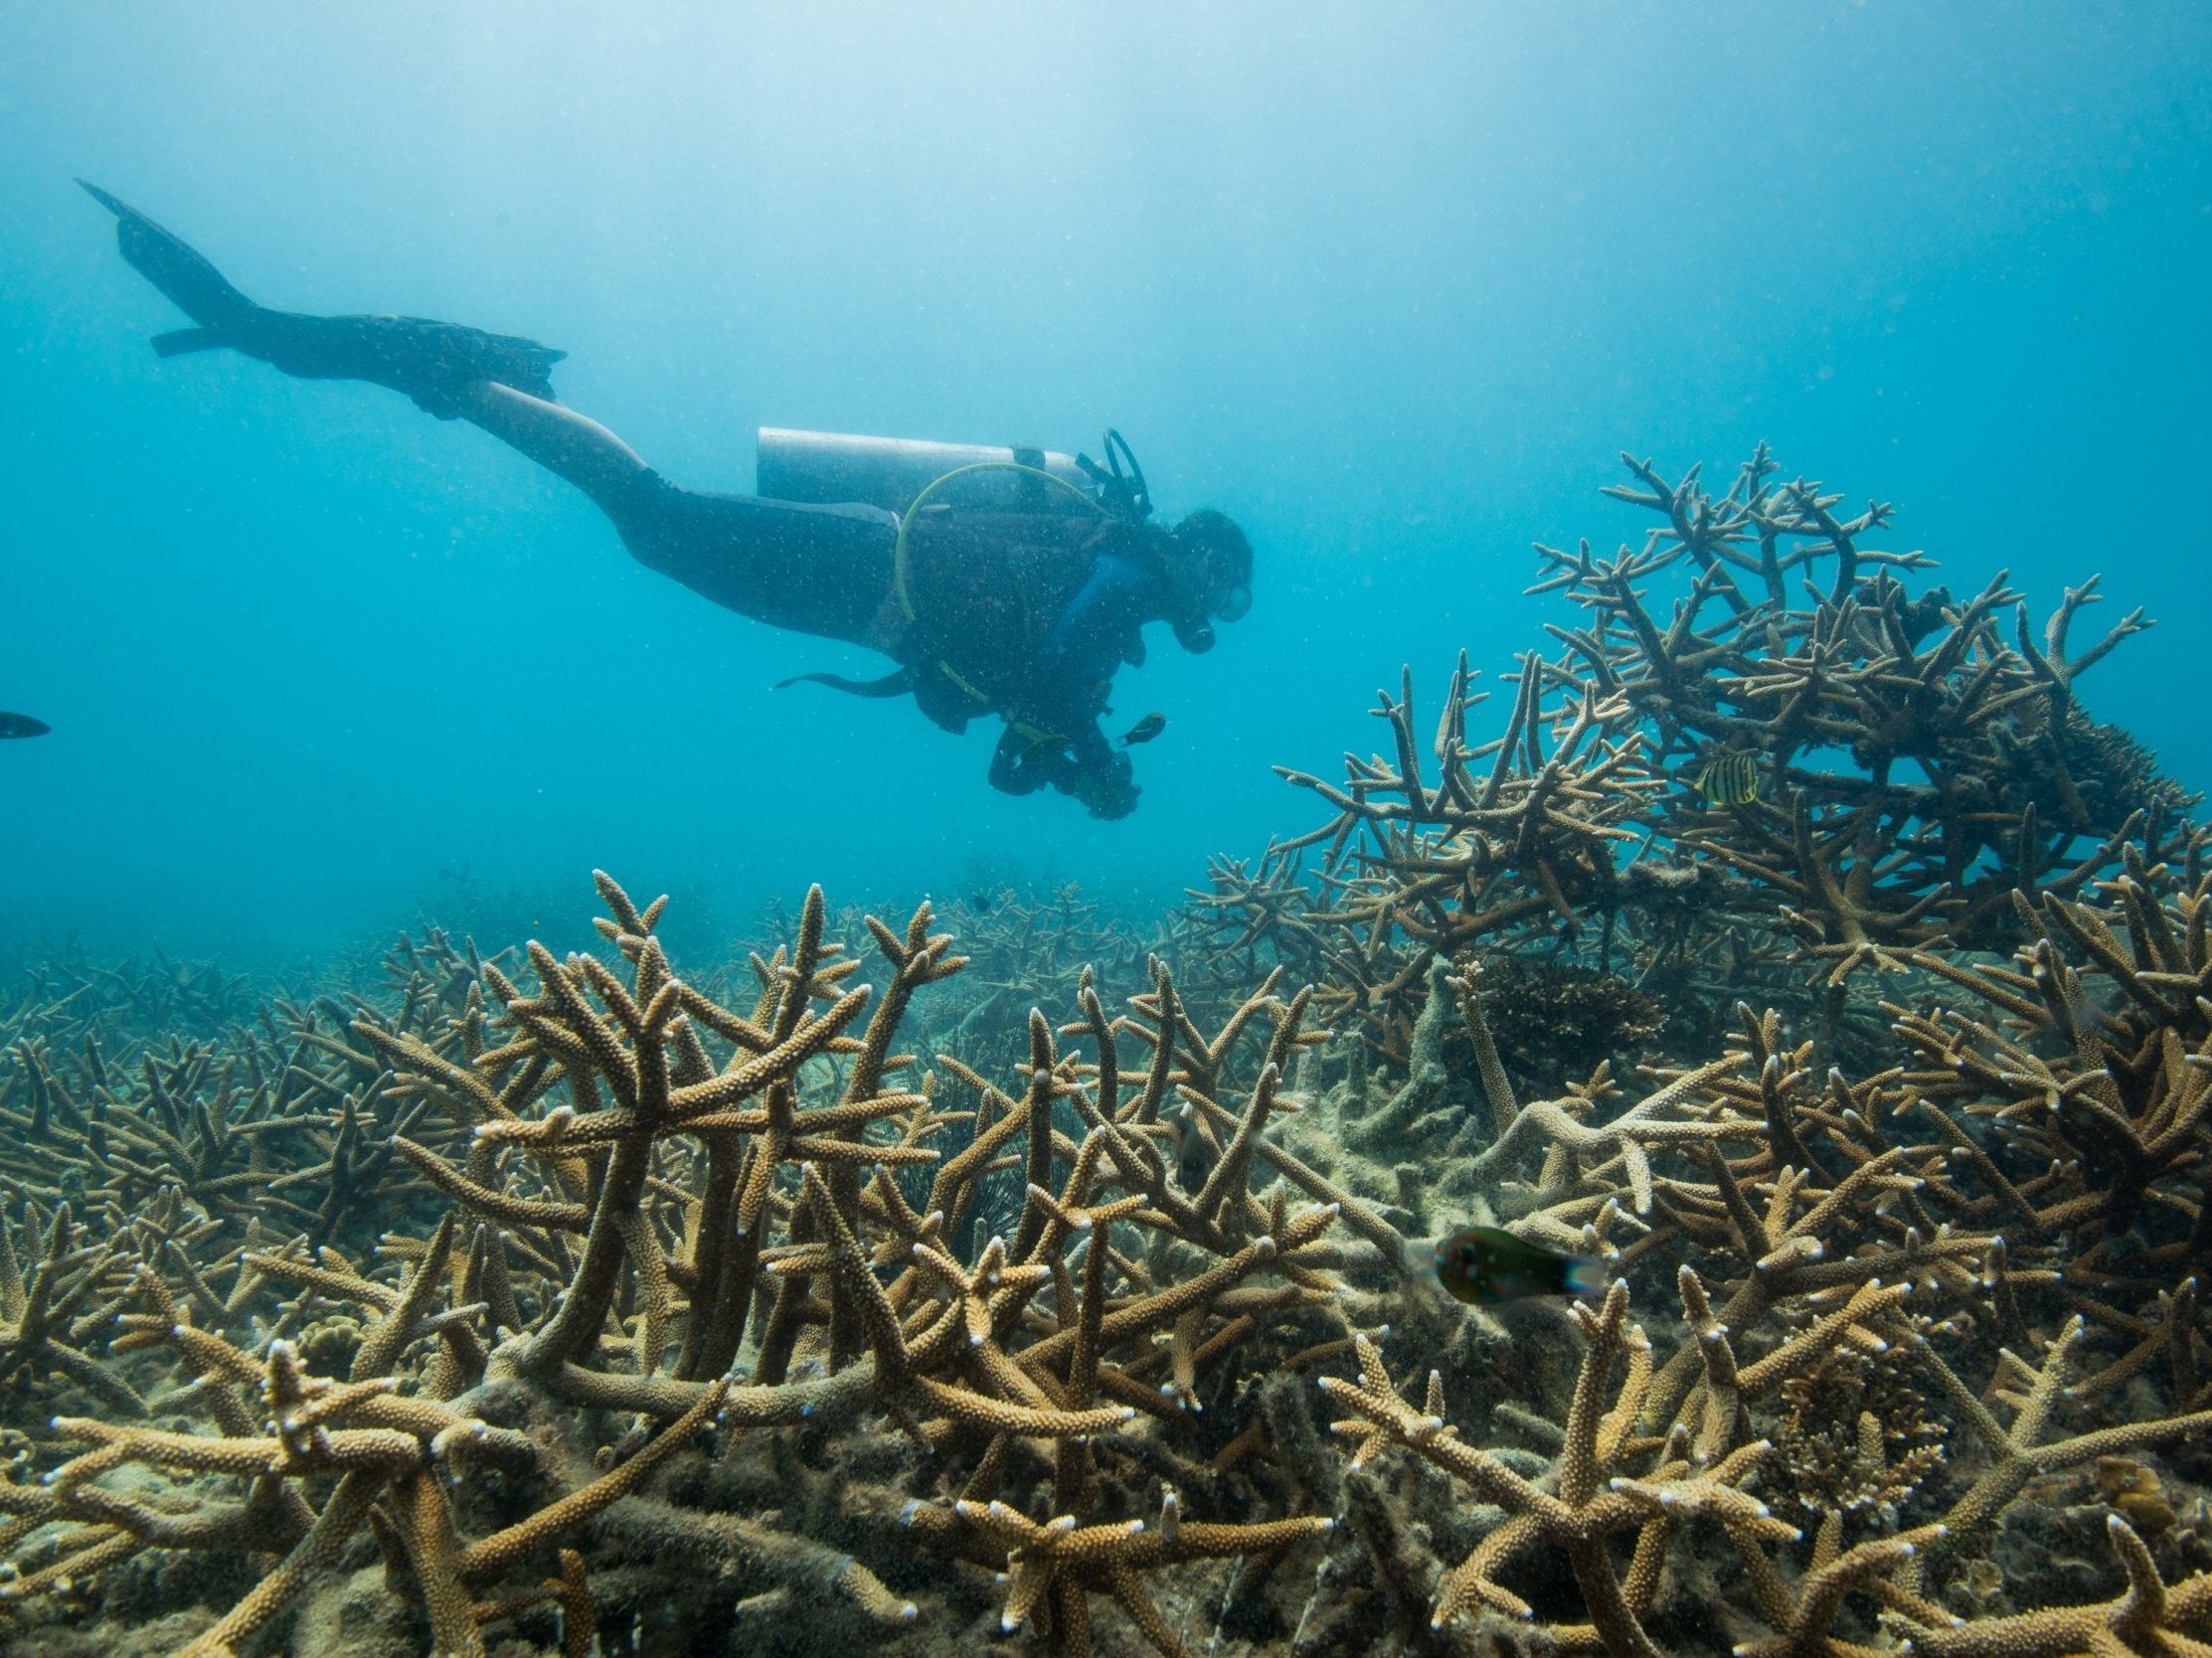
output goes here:
[[272, 312], [210, 265], [181, 237], [164, 230], [97, 183], [77, 179], [115, 214], [115, 245], [139, 276], [159, 287], [199, 327], [155, 334], [161, 356], [243, 351], [301, 380], [374, 380], [411, 396], [434, 416], [451, 418], [453, 398], [478, 380], [498, 380], [533, 398], [553, 398], [551, 369], [566, 351], [515, 334], [487, 334], [425, 316], [305, 316]]

